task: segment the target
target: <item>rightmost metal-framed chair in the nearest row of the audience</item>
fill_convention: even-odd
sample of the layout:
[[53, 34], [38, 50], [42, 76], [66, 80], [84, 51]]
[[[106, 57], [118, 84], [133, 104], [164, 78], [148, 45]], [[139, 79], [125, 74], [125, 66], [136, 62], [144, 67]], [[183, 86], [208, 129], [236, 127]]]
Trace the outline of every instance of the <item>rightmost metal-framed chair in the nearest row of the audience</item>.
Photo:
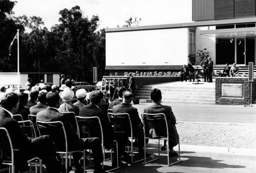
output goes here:
[[[181, 162], [182, 160], [180, 160], [180, 141], [179, 141], [179, 143], [178, 143], [178, 147], [179, 147], [179, 160], [177, 162], [173, 162], [172, 164], [170, 164], [170, 160], [169, 160], [169, 131], [168, 131], [168, 124], [167, 124], [167, 120], [166, 120], [166, 115], [164, 113], [152, 113], [152, 114], [151, 113], [142, 113], [141, 114], [141, 117], [142, 117], [142, 120], [143, 120], [143, 125], [144, 125], [144, 128], [143, 128], [143, 130], [144, 130], [144, 145], [146, 145], [146, 139], [152, 139], [150, 137], [146, 137], [145, 136], [145, 128], [146, 128], [146, 126], [145, 126], [144, 118], [147, 118], [147, 116], [157, 116], [154, 119], [147, 119], [147, 121], [155, 121], [155, 120], [161, 120], [161, 119], [165, 120], [167, 137], [157, 136], [157, 139], [158, 139], [158, 158], [152, 159], [152, 160], [146, 162], [146, 150], [144, 150], [144, 164], [147, 164], [149, 162], [153, 162], [155, 160], [160, 159], [160, 140], [161, 139], [162, 140], [167, 140], [167, 157], [168, 157], [167, 164], [168, 164], [168, 166], [172, 166], [173, 164]], [[148, 127], [148, 125], [147, 125], [147, 127]]]

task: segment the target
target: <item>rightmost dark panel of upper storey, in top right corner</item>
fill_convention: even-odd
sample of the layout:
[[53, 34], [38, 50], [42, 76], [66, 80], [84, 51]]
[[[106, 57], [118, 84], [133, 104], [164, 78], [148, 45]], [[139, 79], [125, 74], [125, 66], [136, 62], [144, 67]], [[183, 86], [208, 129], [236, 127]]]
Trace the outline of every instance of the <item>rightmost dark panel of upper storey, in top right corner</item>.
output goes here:
[[255, 0], [235, 0], [235, 17], [255, 15]]

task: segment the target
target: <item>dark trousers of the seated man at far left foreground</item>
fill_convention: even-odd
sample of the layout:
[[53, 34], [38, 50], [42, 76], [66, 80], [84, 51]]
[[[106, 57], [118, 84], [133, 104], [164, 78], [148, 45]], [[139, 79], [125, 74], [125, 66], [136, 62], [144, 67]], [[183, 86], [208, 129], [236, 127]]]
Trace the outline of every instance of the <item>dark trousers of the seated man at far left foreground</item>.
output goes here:
[[[18, 151], [17, 151], [18, 152]], [[43, 160], [48, 173], [60, 173], [61, 163], [56, 159], [56, 150], [48, 135], [32, 139], [30, 149], [15, 154], [14, 164], [20, 171], [27, 168], [27, 160], [39, 157]]]

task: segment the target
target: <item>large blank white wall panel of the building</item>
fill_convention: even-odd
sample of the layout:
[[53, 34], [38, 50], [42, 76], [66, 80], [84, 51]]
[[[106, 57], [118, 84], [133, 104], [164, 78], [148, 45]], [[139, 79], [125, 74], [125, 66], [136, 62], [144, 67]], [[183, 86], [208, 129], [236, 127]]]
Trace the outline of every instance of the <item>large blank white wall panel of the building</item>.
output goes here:
[[188, 28], [107, 32], [106, 66], [183, 65]]

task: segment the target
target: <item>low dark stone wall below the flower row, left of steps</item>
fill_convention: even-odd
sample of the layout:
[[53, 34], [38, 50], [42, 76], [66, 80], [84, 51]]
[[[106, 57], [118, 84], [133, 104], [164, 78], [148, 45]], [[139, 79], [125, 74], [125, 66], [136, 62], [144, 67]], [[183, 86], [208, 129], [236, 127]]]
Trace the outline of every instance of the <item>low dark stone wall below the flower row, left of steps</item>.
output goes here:
[[[127, 85], [129, 84], [129, 79], [130, 79], [129, 77], [125, 77], [125, 76], [103, 76], [103, 78], [126, 78]], [[134, 77], [135, 85], [137, 85], [138, 88], [141, 88], [143, 85], [174, 82], [179, 80], [180, 80], [180, 77], [171, 77], [171, 76], [146, 76], [146, 77], [135, 76]]]

